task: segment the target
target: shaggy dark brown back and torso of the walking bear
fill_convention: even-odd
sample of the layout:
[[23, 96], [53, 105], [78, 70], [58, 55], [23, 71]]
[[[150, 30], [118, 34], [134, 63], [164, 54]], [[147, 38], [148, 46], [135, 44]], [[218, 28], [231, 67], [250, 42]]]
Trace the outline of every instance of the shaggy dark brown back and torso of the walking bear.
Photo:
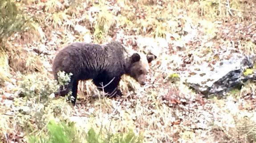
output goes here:
[[53, 62], [54, 76], [58, 71], [73, 73], [79, 79], [90, 79], [104, 72], [122, 74], [125, 59], [124, 47], [119, 43], [98, 45], [72, 43], [59, 51]]

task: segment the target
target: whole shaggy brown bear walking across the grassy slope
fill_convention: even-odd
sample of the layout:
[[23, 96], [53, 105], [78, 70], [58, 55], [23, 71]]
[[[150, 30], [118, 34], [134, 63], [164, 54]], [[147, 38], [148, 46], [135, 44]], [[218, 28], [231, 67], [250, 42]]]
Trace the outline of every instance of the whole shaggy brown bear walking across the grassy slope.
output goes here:
[[122, 95], [118, 84], [123, 74], [133, 77], [140, 85], [146, 84], [147, 70], [140, 59], [138, 53], [130, 55], [121, 43], [115, 41], [105, 45], [69, 44], [58, 52], [53, 61], [53, 75], [56, 80], [59, 71], [73, 74], [65, 90], [58, 93], [65, 96], [72, 91], [74, 99], [71, 102], [75, 104], [78, 81], [93, 79], [98, 89], [102, 90], [103, 85], [107, 96]]

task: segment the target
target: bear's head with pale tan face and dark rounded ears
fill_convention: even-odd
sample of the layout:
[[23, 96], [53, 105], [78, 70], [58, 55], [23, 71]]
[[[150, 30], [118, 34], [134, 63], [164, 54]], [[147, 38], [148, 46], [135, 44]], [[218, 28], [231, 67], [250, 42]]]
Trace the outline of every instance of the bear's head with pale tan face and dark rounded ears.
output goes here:
[[152, 55], [135, 53], [130, 57], [130, 66], [127, 69], [128, 75], [133, 77], [140, 85], [146, 84], [146, 75], [149, 70], [149, 63], [153, 60]]

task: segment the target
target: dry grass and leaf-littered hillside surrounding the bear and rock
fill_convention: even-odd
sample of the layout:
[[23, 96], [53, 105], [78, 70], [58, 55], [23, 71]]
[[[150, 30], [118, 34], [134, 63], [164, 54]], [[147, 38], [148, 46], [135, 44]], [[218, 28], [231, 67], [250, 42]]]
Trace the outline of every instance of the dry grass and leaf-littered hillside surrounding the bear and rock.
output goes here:
[[[254, 82], [227, 98], [207, 99], [174, 81], [187, 65], [216, 60], [216, 52], [256, 54], [255, 0], [17, 1], [25, 22], [0, 25], [1, 142], [47, 139], [52, 120], [77, 123], [73, 143], [86, 142], [90, 128], [105, 137], [131, 130], [146, 143], [256, 142]], [[1, 34], [19, 24], [21, 31]], [[51, 98], [57, 90], [51, 65], [63, 46], [115, 39], [143, 51], [140, 36], [154, 38], [160, 51], [147, 85], [124, 76], [124, 96], [108, 99], [94, 98], [101, 93], [82, 81], [77, 106]]]

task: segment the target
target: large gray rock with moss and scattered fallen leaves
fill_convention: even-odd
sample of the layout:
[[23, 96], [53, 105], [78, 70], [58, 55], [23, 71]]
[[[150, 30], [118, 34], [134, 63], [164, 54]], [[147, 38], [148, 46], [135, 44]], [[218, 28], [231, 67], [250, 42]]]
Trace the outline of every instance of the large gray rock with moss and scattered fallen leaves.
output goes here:
[[[221, 56], [220, 56], [221, 57]], [[249, 79], [255, 79], [255, 73], [244, 76], [244, 70], [252, 68], [254, 55], [233, 53], [229, 59], [221, 59], [215, 64], [202, 63], [189, 67], [183, 74], [185, 84], [205, 96], [215, 94], [223, 96], [233, 88], [241, 87]]]

